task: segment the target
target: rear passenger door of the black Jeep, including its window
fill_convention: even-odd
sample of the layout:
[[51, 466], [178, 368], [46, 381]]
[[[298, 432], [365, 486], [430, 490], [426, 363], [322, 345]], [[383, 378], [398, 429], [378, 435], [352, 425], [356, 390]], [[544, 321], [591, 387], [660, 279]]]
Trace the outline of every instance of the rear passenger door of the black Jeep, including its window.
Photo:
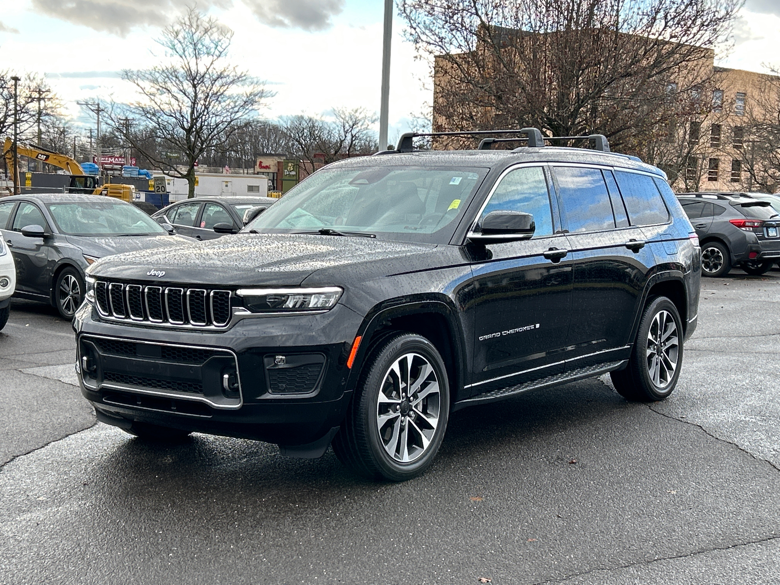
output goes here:
[[611, 169], [555, 165], [554, 170], [574, 260], [566, 367], [625, 359], [653, 253], [640, 226], [629, 222]]

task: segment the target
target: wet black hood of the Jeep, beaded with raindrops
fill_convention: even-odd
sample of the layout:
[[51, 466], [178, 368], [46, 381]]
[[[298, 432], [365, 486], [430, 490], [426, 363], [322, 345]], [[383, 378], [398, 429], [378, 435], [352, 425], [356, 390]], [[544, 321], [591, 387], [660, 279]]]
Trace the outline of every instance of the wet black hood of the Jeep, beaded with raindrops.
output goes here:
[[[170, 250], [119, 254], [96, 262], [88, 273], [161, 283], [296, 286], [323, 268], [356, 264], [378, 268], [381, 261], [392, 273], [407, 264], [410, 257], [430, 254], [435, 248], [431, 244], [361, 237], [237, 234]], [[156, 274], [150, 274], [153, 271]]]

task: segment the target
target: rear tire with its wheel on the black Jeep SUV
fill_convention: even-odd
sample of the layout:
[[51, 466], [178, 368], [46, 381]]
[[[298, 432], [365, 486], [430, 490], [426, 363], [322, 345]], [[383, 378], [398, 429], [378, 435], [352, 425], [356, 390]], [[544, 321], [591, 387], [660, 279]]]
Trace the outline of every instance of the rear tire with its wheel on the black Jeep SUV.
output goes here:
[[[665, 342], [661, 360], [657, 353], [659, 335]], [[683, 323], [677, 307], [665, 296], [656, 296], [642, 312], [629, 364], [626, 369], [610, 374], [612, 384], [628, 400], [664, 400], [675, 389], [682, 365]]]

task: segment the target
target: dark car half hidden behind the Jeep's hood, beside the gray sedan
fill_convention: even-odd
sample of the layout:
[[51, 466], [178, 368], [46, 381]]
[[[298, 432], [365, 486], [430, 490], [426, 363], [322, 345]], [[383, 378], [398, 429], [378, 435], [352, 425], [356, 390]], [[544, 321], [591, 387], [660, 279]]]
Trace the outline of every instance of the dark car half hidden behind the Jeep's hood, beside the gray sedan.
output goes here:
[[245, 225], [247, 211], [265, 210], [275, 204], [271, 197], [197, 197], [168, 205], [152, 217], [168, 223], [173, 231], [195, 239], [215, 239], [226, 233], [237, 233]]

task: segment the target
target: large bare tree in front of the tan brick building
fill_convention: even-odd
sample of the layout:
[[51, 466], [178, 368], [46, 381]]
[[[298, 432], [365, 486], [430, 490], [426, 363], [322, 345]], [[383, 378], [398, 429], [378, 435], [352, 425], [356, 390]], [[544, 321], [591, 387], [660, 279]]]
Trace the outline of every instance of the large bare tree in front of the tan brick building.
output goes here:
[[[599, 132], [624, 150], [665, 126], [668, 88], [711, 75], [742, 0], [401, 0], [434, 57], [434, 129]], [[686, 71], [690, 87], [675, 78]]]

